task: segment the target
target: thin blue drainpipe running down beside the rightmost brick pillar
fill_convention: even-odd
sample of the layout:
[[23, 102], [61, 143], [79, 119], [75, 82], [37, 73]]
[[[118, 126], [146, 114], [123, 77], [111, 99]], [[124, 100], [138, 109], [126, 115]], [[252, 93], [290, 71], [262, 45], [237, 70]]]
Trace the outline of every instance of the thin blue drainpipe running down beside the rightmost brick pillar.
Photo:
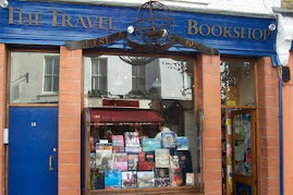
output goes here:
[[[280, 68], [282, 68], [280, 65]], [[283, 195], [283, 80], [282, 69], [279, 78], [279, 129], [280, 129], [280, 195]]]

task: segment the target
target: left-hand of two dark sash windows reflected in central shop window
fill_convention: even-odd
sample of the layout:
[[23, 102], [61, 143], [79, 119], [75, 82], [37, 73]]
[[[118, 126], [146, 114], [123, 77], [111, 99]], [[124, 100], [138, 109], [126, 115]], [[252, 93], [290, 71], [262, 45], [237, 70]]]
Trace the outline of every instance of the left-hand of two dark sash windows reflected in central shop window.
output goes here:
[[107, 90], [107, 59], [91, 59], [91, 89]]

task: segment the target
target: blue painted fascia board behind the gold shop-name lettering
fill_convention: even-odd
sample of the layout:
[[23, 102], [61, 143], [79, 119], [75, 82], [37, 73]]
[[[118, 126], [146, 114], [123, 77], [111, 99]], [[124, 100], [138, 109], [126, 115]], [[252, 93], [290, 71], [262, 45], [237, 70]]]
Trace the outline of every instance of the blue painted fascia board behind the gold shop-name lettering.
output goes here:
[[[84, 5], [84, 4], [65, 4], [65, 3], [49, 3], [49, 2], [34, 2], [34, 1], [15, 1], [10, 0], [10, 8], [17, 8], [27, 19], [27, 12], [41, 13], [41, 21], [39, 26], [9, 24], [9, 10], [0, 9], [0, 42], [5, 44], [27, 44], [27, 45], [64, 45], [65, 40], [81, 40], [103, 37], [115, 32], [126, 31], [127, 26], [135, 21], [134, 16], [138, 10], [134, 8], [119, 8], [119, 7], [101, 7], [101, 5]], [[90, 19], [95, 16], [112, 17], [113, 29], [103, 29], [94, 27], [91, 29], [84, 28], [81, 23], [77, 27], [61, 26], [61, 16], [58, 19], [58, 26], [52, 26], [51, 10], [62, 11], [63, 14], [71, 15], [72, 21], [77, 21], [80, 15], [89, 15]], [[198, 26], [208, 24], [210, 27], [221, 25], [227, 27], [245, 27], [259, 28], [266, 31], [268, 25], [277, 24], [274, 19], [258, 19], [244, 16], [229, 16], [219, 14], [204, 14], [192, 12], [174, 12], [175, 27], [174, 33], [182, 37], [198, 41], [206, 46], [218, 48], [222, 54], [241, 54], [241, 56], [272, 56], [276, 54], [276, 37], [277, 31], [272, 32], [267, 40], [229, 38], [223, 36], [202, 36], [187, 35], [187, 21], [196, 20]], [[17, 15], [14, 16], [17, 21]], [[85, 20], [85, 17], [84, 17]], [[86, 21], [86, 20], [85, 20]], [[73, 22], [73, 24], [75, 23]], [[87, 22], [85, 22], [88, 24]], [[206, 29], [203, 29], [205, 33]], [[219, 32], [218, 32], [219, 33]], [[107, 48], [125, 48], [125, 41], [113, 42]], [[193, 51], [175, 46], [170, 51]], [[274, 60], [276, 61], [276, 60]]]

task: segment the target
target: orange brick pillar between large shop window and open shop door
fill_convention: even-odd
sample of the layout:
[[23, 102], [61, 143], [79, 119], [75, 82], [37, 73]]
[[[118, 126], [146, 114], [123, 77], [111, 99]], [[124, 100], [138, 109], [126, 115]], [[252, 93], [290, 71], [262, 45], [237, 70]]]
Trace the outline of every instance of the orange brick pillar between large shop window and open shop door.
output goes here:
[[199, 54], [196, 60], [197, 108], [204, 111], [203, 182], [205, 194], [221, 194], [220, 57]]

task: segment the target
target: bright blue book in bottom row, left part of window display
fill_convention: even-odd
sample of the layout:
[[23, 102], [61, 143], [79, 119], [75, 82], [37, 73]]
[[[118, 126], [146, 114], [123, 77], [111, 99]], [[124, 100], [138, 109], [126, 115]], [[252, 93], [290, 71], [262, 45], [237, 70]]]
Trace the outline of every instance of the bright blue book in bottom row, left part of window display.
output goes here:
[[122, 176], [121, 170], [107, 169], [105, 170], [105, 188], [122, 188], [121, 185]]

